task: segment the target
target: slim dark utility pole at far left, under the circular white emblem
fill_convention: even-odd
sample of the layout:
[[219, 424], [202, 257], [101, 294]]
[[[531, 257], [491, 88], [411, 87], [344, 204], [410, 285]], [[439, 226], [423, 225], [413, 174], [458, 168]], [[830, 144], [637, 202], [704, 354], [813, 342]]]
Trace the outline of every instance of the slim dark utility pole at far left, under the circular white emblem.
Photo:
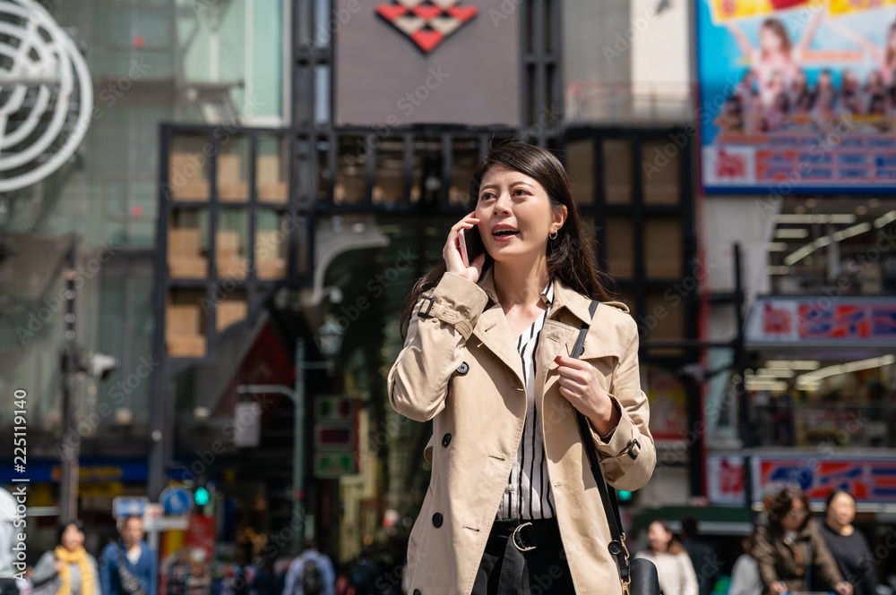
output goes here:
[[59, 516], [65, 523], [78, 518], [78, 482], [81, 454], [81, 436], [78, 434], [78, 398], [75, 374], [78, 370], [77, 349], [74, 339], [74, 280], [76, 268], [76, 240], [72, 239], [65, 255], [65, 345], [62, 354], [62, 442], [60, 458], [62, 477], [59, 484]]

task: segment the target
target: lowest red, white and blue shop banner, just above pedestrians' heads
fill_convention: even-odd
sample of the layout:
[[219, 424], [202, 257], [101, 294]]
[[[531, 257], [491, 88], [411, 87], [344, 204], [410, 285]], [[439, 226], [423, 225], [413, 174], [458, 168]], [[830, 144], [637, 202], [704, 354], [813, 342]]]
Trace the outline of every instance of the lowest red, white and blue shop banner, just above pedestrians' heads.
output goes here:
[[[812, 502], [833, 489], [846, 489], [863, 504], [896, 504], [896, 461], [892, 457], [849, 457], [819, 451], [806, 455], [757, 455], [751, 459], [753, 501], [797, 484]], [[744, 504], [744, 458], [706, 457], [707, 497], [713, 505]]]

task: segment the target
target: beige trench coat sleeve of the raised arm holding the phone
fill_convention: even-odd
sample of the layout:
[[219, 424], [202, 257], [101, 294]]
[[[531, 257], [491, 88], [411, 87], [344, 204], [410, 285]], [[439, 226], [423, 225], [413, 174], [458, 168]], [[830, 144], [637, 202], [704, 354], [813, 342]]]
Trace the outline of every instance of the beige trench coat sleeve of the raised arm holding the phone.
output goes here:
[[396, 412], [428, 421], [444, 409], [448, 381], [487, 301], [481, 287], [453, 273], [421, 296], [389, 370], [389, 401]]

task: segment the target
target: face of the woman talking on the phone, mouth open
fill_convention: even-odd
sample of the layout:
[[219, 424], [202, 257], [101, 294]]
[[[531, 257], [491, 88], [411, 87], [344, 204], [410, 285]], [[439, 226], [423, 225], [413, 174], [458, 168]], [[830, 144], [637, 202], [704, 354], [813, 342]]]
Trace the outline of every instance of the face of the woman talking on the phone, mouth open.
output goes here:
[[476, 217], [486, 250], [496, 262], [543, 255], [547, 234], [559, 229], [566, 208], [554, 211], [537, 180], [504, 166], [482, 176]]

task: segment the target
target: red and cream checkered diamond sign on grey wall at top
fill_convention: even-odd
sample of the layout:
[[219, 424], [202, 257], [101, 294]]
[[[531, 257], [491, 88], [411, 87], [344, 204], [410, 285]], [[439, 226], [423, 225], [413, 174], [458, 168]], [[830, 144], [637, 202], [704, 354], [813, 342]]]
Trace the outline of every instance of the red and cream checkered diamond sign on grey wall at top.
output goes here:
[[379, 4], [376, 13], [407, 35], [424, 54], [472, 21], [476, 6], [458, 6], [461, 0], [393, 0]]

